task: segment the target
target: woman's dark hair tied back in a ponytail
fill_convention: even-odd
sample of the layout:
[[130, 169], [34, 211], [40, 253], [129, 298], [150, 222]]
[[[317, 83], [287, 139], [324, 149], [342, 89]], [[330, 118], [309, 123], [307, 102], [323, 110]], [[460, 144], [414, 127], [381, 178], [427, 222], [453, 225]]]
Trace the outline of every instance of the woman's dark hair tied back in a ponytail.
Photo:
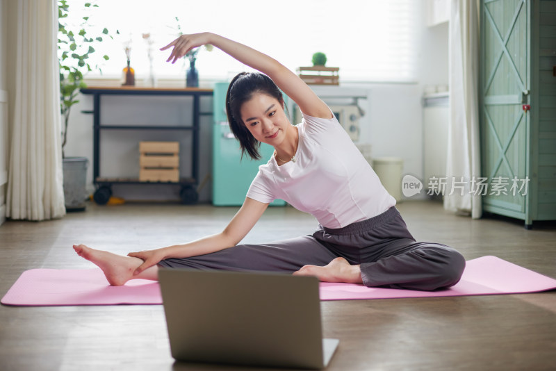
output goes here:
[[241, 158], [248, 154], [252, 159], [259, 160], [261, 142], [256, 140], [241, 119], [241, 106], [249, 101], [254, 94], [263, 93], [277, 99], [284, 107], [284, 97], [270, 77], [259, 72], [241, 72], [237, 74], [228, 87], [226, 94], [226, 114], [231, 132], [239, 140]]

